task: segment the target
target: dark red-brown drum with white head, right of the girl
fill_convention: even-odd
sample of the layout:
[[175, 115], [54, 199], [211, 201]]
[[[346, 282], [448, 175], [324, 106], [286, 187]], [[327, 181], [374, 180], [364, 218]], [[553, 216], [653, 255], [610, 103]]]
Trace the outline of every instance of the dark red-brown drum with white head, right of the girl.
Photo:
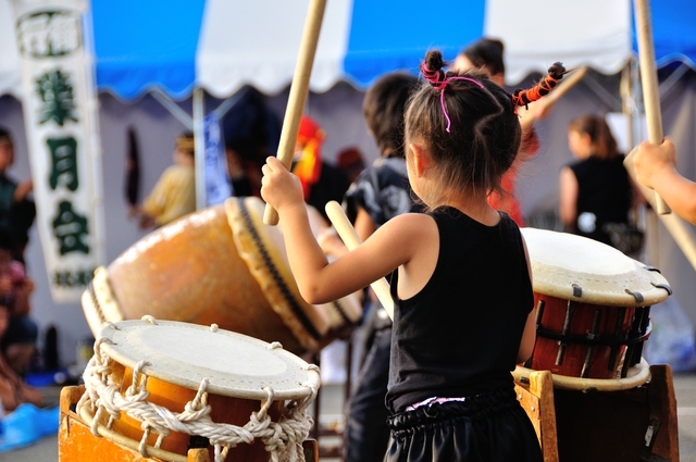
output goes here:
[[581, 379], [626, 378], [642, 363], [650, 305], [671, 294], [667, 279], [588, 238], [536, 228], [522, 234], [537, 308], [527, 365]]

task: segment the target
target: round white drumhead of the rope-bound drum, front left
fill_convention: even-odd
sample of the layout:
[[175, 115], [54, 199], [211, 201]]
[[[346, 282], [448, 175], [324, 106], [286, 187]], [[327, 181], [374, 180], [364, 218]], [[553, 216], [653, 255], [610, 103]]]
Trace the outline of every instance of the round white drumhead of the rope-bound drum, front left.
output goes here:
[[175, 321], [123, 321], [105, 325], [101, 351], [130, 369], [145, 360], [144, 374], [197, 390], [203, 378], [207, 390], [243, 399], [265, 399], [264, 387], [275, 400], [310, 396], [307, 385], [320, 386], [319, 372], [299, 357], [270, 348], [271, 344], [229, 330]]

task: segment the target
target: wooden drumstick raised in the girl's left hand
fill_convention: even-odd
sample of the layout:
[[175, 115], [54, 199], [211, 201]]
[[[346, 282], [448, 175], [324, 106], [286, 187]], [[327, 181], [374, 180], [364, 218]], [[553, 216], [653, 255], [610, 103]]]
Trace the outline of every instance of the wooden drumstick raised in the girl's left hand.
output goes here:
[[[312, 64], [314, 63], [314, 53], [316, 52], [316, 42], [319, 41], [319, 33], [322, 27], [325, 7], [326, 0], [310, 0], [309, 10], [307, 11], [304, 30], [302, 33], [302, 40], [300, 41], [300, 51], [297, 58], [295, 74], [293, 75], [293, 84], [290, 85], [290, 93], [285, 110], [285, 118], [283, 120], [277, 152], [277, 158], [287, 170], [290, 170], [293, 165], [297, 133], [300, 128], [300, 118], [302, 117], [302, 110], [304, 109], [307, 92], [309, 91], [309, 77], [312, 73]], [[271, 226], [278, 224], [278, 214], [271, 205], [265, 205], [263, 223]]]

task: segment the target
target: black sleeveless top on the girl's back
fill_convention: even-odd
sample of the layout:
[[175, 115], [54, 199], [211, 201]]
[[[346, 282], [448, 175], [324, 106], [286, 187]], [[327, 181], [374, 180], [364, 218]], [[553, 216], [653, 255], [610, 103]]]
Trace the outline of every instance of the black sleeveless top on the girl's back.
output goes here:
[[387, 402], [396, 412], [433, 396], [511, 388], [534, 302], [522, 237], [508, 215], [501, 213], [496, 226], [452, 208], [433, 217], [439, 230], [435, 271], [395, 310]]

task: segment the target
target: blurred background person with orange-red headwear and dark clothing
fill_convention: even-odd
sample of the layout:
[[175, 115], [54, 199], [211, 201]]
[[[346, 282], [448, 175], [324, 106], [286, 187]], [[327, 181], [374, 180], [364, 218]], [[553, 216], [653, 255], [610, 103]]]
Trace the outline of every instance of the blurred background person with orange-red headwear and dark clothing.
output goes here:
[[316, 121], [302, 115], [291, 171], [302, 184], [304, 201], [316, 209], [328, 224], [328, 216], [324, 210], [326, 202], [340, 202], [350, 182], [341, 170], [322, 159], [325, 137], [324, 129]]

